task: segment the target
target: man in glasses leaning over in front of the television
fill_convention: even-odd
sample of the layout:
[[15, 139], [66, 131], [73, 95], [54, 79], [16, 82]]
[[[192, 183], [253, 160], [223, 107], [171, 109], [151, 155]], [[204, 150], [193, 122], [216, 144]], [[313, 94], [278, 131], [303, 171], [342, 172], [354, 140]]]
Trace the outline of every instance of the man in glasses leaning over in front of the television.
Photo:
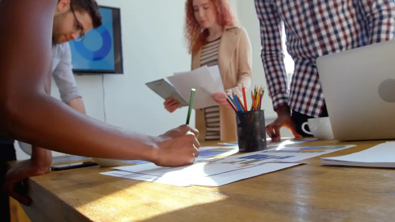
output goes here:
[[[85, 106], [78, 92], [71, 66], [68, 41], [83, 41], [84, 34], [102, 24], [99, 6], [95, 1], [59, 0], [53, 20], [53, 78], [59, 88], [62, 102], [85, 114]], [[81, 13], [87, 11], [88, 13]]]

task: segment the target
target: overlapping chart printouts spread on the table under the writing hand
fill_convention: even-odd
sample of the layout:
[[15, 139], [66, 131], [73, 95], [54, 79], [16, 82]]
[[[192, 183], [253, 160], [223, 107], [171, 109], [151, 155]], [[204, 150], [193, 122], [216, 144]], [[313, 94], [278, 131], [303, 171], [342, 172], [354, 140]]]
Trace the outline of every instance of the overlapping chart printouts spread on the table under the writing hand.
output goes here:
[[[276, 147], [265, 151], [250, 152], [226, 156], [237, 151], [228, 147], [201, 148], [203, 156], [190, 166], [159, 167], [152, 163], [135, 166], [114, 167], [116, 171], [101, 173], [103, 175], [158, 182], [176, 186], [221, 186], [249, 177], [270, 173], [280, 169], [304, 164], [296, 162], [327, 154], [355, 145], [316, 146], [316, 147]], [[221, 151], [225, 151], [222, 152]], [[207, 152], [207, 154], [204, 154]], [[212, 154], [219, 154], [212, 156]]]

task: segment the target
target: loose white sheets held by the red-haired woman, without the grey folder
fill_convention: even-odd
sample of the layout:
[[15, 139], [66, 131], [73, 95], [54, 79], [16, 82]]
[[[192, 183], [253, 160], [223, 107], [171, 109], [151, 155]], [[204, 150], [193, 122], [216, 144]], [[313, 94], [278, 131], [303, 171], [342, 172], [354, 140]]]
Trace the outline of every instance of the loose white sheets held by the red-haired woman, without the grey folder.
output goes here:
[[218, 69], [218, 66], [210, 67], [210, 69], [207, 66], [202, 66], [196, 70], [175, 73], [167, 79], [180, 92], [182, 97], [188, 98], [188, 100], [191, 88], [196, 89], [193, 109], [202, 109], [218, 105], [211, 97], [213, 93], [225, 93], [220, 73], [214, 71], [216, 69]]

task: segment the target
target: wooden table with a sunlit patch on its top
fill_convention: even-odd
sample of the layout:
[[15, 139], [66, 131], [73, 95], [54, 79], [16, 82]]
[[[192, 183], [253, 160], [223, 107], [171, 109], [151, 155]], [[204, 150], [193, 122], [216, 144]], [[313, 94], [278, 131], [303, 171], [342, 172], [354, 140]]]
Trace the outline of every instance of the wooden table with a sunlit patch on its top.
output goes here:
[[[339, 156], [383, 141], [314, 141], [295, 146], [355, 144]], [[206, 143], [204, 145], [214, 145]], [[395, 149], [395, 148], [394, 148]], [[87, 167], [30, 179], [32, 222], [395, 221], [395, 171], [310, 164], [219, 187], [178, 187], [100, 175]], [[19, 220], [21, 221], [21, 220]]]

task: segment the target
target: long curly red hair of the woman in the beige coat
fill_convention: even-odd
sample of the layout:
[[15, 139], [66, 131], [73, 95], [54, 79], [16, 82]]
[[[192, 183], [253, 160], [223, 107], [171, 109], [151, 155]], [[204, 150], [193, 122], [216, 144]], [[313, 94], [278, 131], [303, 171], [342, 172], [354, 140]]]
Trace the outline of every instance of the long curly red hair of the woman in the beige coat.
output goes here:
[[[234, 26], [236, 24], [228, 0], [211, 0], [211, 2], [213, 2], [216, 9], [216, 19], [219, 25]], [[198, 21], [196, 21], [193, 0], [185, 2], [185, 11], [184, 35], [188, 41], [189, 53], [196, 53], [203, 45], [207, 44], [209, 32], [207, 29], [202, 29]]]

